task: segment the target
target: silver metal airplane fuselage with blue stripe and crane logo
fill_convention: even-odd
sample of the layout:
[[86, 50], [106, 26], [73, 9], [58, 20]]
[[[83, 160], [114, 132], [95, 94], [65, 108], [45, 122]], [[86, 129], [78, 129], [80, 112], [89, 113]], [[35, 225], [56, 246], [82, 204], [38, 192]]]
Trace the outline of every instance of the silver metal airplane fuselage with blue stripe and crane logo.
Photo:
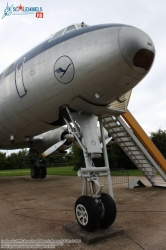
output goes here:
[[107, 112], [148, 73], [154, 53], [143, 31], [120, 24], [46, 40], [0, 75], [0, 148], [11, 147], [11, 135], [19, 147], [27, 137], [58, 127], [63, 105]]

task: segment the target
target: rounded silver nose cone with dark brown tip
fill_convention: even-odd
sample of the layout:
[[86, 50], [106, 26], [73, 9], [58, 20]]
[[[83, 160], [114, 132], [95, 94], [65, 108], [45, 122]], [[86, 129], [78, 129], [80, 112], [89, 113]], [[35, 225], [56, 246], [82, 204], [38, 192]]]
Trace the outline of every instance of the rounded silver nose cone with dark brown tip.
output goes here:
[[130, 67], [138, 73], [147, 73], [152, 66], [155, 48], [150, 37], [134, 27], [122, 27], [119, 31], [119, 47]]

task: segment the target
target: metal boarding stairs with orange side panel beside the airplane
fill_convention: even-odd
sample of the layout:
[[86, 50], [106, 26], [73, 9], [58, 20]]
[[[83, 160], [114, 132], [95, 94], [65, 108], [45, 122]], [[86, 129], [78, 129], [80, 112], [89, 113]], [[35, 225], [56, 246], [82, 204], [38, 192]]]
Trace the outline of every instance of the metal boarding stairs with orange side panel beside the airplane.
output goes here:
[[166, 187], [166, 160], [131, 113], [104, 116], [102, 123], [152, 186]]

